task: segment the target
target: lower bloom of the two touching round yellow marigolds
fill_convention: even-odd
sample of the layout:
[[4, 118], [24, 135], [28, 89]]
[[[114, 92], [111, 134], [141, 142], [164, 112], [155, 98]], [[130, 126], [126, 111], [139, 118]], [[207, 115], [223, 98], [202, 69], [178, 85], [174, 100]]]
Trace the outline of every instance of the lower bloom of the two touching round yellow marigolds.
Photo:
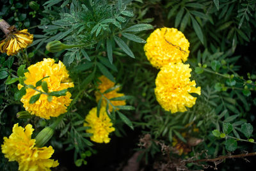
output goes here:
[[189, 64], [170, 63], [161, 68], [156, 78], [156, 100], [164, 110], [185, 112], [186, 107], [193, 107], [196, 98], [189, 93], [201, 94], [201, 87], [195, 87], [195, 80], [190, 81]]

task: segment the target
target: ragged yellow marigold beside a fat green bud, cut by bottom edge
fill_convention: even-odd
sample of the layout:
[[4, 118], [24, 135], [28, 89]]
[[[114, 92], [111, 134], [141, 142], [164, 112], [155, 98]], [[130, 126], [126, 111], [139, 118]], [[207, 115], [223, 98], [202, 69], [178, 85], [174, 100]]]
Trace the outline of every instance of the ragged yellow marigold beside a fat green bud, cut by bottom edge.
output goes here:
[[51, 158], [54, 149], [52, 146], [38, 148], [35, 147], [35, 139], [31, 139], [34, 131], [31, 124], [27, 124], [25, 129], [14, 124], [13, 133], [9, 138], [4, 137], [1, 145], [2, 152], [9, 161], [17, 161], [19, 170], [51, 170], [51, 167], [59, 165], [58, 160]]

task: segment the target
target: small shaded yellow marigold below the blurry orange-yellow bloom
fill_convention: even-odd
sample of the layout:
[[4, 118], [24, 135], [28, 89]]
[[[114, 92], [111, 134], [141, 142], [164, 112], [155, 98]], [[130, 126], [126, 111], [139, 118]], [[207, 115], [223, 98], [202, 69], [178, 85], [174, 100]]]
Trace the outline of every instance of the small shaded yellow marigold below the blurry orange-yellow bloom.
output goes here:
[[97, 117], [97, 107], [92, 108], [89, 114], [85, 117], [86, 123], [84, 126], [90, 126], [90, 129], [87, 129], [87, 133], [93, 133], [91, 140], [97, 143], [108, 143], [110, 138], [108, 137], [109, 133], [115, 131], [113, 128], [113, 123], [108, 117], [106, 108], [100, 108], [99, 117]]

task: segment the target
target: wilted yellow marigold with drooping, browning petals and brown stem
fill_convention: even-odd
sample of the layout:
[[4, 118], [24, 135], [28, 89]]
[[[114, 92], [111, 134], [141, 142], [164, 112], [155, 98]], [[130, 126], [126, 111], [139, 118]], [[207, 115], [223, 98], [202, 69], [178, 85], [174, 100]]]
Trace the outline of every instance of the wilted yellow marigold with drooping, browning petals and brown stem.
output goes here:
[[8, 56], [13, 56], [20, 49], [28, 47], [33, 42], [33, 34], [28, 29], [22, 31], [11, 31], [4, 40], [0, 41], [0, 51]]

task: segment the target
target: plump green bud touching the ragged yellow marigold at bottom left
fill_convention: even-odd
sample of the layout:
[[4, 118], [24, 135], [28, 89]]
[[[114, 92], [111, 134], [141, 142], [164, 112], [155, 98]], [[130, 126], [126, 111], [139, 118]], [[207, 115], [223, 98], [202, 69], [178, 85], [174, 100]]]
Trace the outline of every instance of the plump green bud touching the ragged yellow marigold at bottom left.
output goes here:
[[36, 147], [43, 147], [52, 137], [54, 130], [51, 127], [45, 127], [36, 135]]

